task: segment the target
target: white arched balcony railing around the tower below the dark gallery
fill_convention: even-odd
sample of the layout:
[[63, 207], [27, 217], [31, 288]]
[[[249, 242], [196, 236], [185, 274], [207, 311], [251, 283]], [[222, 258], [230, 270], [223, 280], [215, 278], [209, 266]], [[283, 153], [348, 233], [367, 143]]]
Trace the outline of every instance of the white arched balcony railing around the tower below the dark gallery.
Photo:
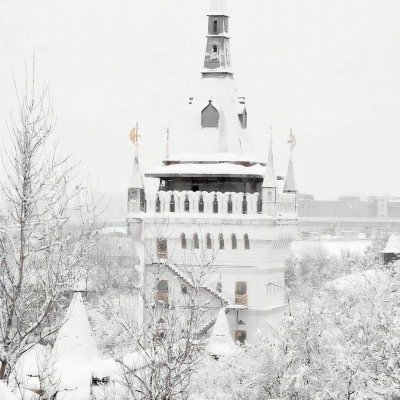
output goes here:
[[[259, 193], [159, 191], [146, 193], [147, 213], [262, 214]], [[273, 209], [276, 213], [295, 213], [293, 194], [280, 194]]]

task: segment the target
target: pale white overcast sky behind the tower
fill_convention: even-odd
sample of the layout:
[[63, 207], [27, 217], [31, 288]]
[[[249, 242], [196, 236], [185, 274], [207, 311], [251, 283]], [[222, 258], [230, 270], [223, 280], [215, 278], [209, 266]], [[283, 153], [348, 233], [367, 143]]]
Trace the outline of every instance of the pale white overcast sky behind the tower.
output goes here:
[[[286, 172], [297, 137], [302, 192], [400, 195], [400, 1], [228, 1], [233, 68], [267, 157]], [[0, 0], [0, 132], [33, 52], [57, 133], [100, 190], [126, 190], [130, 129], [143, 169], [200, 79], [209, 1]], [[188, 132], [190, 134], [190, 132]], [[173, 149], [172, 149], [173, 152]], [[1, 177], [0, 171], [0, 177]]]

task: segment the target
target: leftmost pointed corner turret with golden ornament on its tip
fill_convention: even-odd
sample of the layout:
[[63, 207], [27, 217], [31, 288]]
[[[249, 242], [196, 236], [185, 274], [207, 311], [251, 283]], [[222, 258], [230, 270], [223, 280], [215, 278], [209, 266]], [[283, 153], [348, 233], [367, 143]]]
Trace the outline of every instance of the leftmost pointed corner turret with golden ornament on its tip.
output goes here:
[[139, 167], [138, 126], [131, 130], [130, 139], [135, 147], [133, 168], [128, 186], [128, 213], [138, 213], [144, 209], [144, 183]]

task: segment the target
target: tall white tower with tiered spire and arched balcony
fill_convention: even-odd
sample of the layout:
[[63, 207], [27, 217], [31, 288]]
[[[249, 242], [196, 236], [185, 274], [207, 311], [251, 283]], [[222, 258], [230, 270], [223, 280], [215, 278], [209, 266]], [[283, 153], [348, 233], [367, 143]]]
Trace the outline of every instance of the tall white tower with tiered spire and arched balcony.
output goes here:
[[232, 339], [253, 342], [266, 320], [287, 307], [285, 260], [298, 223], [293, 164], [283, 190], [272, 143], [267, 162], [267, 151], [255, 154], [245, 99], [236, 93], [231, 69], [224, 0], [212, 0], [206, 37], [199, 87], [171, 126], [166, 159], [145, 173], [159, 180], [145, 201], [135, 157], [128, 230], [144, 281], [157, 263], [167, 266], [157, 285], [163, 303], [185, 292], [189, 267], [212, 260], [203, 288], [209, 312], [199, 334], [211, 334], [224, 308]]

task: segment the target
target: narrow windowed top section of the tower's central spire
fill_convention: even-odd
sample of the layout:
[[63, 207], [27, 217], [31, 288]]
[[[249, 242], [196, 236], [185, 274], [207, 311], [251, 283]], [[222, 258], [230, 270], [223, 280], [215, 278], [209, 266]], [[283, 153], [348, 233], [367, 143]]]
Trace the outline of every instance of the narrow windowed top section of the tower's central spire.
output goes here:
[[204, 74], [230, 72], [229, 16], [225, 0], [213, 0], [208, 14], [207, 48]]

